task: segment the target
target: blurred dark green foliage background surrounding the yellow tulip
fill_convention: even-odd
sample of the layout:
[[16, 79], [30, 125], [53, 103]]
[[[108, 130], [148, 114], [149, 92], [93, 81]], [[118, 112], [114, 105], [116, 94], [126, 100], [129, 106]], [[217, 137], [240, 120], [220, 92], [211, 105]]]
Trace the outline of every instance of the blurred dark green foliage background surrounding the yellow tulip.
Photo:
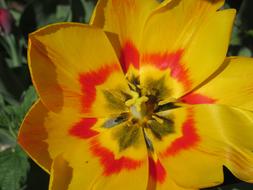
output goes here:
[[[27, 68], [27, 36], [50, 23], [88, 22], [95, 0], [0, 0], [0, 190], [47, 190], [49, 176], [16, 143], [20, 122], [36, 100]], [[253, 55], [253, 0], [227, 0], [237, 9], [228, 55]], [[212, 190], [253, 190], [224, 168]], [[206, 174], [208, 175], [208, 174]]]

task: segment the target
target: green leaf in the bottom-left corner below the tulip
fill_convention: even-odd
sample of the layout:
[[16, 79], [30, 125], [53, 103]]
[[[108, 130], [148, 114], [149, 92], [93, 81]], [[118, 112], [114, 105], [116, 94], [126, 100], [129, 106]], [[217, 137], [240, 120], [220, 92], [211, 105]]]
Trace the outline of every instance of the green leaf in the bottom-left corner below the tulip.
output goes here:
[[0, 152], [0, 189], [20, 190], [29, 168], [28, 158], [19, 146]]

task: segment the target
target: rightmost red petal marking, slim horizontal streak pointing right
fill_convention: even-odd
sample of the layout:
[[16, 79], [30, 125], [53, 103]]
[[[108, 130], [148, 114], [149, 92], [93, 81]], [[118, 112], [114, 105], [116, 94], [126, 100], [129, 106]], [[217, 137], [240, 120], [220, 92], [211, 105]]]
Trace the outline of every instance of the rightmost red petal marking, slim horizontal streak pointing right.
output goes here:
[[188, 94], [182, 97], [181, 101], [187, 104], [213, 104], [216, 102], [216, 100], [198, 93]]

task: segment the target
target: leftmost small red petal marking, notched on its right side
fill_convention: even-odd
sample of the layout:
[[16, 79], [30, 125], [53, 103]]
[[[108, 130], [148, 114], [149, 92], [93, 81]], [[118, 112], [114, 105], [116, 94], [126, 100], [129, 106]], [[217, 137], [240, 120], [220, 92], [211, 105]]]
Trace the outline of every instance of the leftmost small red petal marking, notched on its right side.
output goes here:
[[97, 131], [91, 129], [96, 122], [96, 118], [83, 118], [69, 130], [69, 134], [82, 139], [91, 138], [99, 134]]

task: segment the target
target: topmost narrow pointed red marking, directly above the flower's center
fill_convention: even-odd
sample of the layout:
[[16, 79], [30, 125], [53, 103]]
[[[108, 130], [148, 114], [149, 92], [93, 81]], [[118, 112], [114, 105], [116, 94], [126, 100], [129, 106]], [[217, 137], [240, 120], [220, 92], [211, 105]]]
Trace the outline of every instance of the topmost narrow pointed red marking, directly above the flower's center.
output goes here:
[[133, 43], [127, 41], [121, 51], [120, 63], [123, 71], [126, 73], [129, 66], [139, 69], [140, 54]]

